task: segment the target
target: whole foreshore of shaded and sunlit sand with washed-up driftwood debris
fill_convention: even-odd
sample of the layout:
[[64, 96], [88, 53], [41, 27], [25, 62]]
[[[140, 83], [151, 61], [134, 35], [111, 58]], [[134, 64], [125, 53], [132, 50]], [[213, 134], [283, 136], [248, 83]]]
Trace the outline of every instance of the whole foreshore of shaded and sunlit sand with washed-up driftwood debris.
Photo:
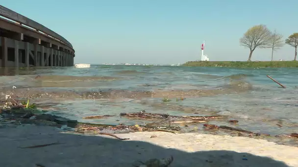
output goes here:
[[[5, 154], [1, 156], [0, 165], [4, 167], [298, 166], [297, 146], [243, 136], [266, 134], [208, 124], [204, 126], [210, 130], [227, 128], [243, 133], [241, 136], [229, 136], [185, 133], [180, 131], [179, 126], [89, 124], [43, 113], [34, 109], [32, 104], [28, 107], [16, 105], [1, 110], [0, 148]], [[145, 111], [121, 115], [177, 118]], [[104, 117], [108, 115], [87, 118]], [[203, 119], [221, 117], [224, 116], [204, 116]], [[201, 116], [192, 118], [197, 121], [202, 119]], [[296, 141], [296, 137], [293, 138]]]

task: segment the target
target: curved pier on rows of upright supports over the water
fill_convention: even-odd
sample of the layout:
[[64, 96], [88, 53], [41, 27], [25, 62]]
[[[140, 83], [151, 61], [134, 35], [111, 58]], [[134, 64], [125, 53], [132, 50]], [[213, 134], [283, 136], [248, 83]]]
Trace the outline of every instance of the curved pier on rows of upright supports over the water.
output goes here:
[[73, 45], [49, 28], [0, 5], [0, 66], [73, 66]]

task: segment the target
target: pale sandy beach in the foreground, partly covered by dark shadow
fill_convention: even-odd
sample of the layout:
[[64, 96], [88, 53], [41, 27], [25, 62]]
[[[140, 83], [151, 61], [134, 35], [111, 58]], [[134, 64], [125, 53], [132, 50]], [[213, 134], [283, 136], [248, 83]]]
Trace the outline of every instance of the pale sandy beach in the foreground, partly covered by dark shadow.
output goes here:
[[4, 127], [0, 129], [0, 166], [134, 167], [141, 164], [138, 161], [173, 156], [169, 167], [298, 167], [298, 147], [266, 140], [169, 132], [116, 135], [130, 139], [75, 134], [50, 126]]

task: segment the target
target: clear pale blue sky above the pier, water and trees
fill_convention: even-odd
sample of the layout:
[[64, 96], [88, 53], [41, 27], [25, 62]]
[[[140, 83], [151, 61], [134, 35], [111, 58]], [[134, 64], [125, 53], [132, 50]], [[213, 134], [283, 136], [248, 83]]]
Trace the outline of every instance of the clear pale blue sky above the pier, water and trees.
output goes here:
[[[239, 38], [266, 24], [288, 37], [298, 32], [298, 0], [2, 0], [1, 5], [65, 37], [75, 63], [184, 63], [246, 61]], [[274, 59], [293, 60], [285, 45]], [[269, 61], [270, 49], [252, 60]]]

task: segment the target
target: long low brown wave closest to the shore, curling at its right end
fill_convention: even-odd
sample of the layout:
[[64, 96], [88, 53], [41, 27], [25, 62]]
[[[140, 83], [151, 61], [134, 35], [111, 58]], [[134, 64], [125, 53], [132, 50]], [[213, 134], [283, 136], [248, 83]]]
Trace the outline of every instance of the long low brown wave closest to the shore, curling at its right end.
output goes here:
[[[69, 87], [69, 86], [68, 86]], [[251, 85], [243, 82], [230, 82], [229, 84], [218, 88], [218, 89], [155, 89], [155, 90], [121, 90], [121, 89], [45, 89], [45, 88], [31, 88], [26, 89], [2, 89], [2, 95], [14, 93], [15, 96], [27, 97], [29, 94], [35, 98], [84, 98], [84, 99], [117, 99], [117, 98], [129, 98], [129, 99], [143, 99], [143, 98], [180, 98], [180, 97], [201, 97], [201, 96], [213, 96], [219, 94], [231, 94], [231, 93], [242, 93], [251, 90]]]

